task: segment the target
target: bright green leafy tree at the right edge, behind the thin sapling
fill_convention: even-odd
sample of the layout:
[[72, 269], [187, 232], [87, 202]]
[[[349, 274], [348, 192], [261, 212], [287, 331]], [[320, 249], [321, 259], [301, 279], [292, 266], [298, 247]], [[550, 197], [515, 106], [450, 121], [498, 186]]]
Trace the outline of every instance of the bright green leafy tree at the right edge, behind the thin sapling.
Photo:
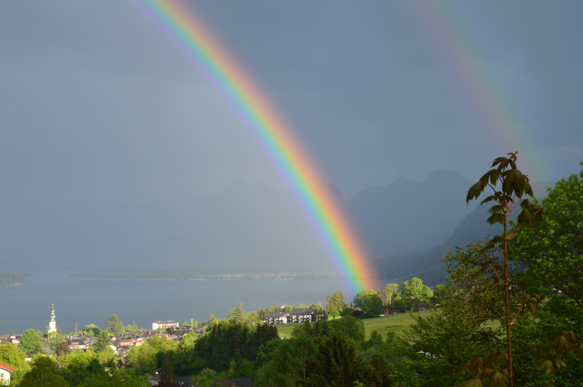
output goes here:
[[512, 240], [512, 260], [528, 268], [530, 283], [558, 290], [583, 307], [583, 170], [557, 182], [540, 207], [542, 222]]

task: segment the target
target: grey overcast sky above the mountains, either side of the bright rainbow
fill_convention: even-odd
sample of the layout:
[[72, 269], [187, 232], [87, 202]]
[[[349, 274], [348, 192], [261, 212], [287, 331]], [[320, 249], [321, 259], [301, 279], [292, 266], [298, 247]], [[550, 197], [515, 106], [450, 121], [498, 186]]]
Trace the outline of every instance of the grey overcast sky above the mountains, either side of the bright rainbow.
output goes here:
[[[188, 4], [345, 198], [434, 170], [474, 180], [517, 149], [533, 180], [580, 168], [578, 1]], [[132, 1], [1, 1], [0, 109], [1, 200], [149, 202], [238, 180], [284, 186], [213, 85]]]

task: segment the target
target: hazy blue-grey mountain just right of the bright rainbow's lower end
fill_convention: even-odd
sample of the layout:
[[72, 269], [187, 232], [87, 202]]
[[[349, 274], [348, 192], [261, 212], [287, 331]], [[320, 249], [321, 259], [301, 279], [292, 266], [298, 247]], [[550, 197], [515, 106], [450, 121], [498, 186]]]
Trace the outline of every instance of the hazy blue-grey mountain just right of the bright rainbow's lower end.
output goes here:
[[397, 178], [369, 187], [346, 207], [373, 258], [424, 251], [442, 243], [476, 202], [466, 205], [473, 182], [451, 170], [440, 170], [423, 182]]

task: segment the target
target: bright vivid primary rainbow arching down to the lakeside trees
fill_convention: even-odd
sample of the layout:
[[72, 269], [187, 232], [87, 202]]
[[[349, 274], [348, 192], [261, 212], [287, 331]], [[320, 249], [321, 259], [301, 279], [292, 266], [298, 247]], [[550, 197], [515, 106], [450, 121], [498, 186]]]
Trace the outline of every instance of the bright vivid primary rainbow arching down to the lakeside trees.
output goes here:
[[370, 288], [370, 261], [341, 205], [322, 184], [315, 163], [291, 128], [229, 55], [210, 29], [176, 0], [132, 0], [213, 82], [264, 148], [294, 191], [337, 271], [346, 274], [356, 293]]

